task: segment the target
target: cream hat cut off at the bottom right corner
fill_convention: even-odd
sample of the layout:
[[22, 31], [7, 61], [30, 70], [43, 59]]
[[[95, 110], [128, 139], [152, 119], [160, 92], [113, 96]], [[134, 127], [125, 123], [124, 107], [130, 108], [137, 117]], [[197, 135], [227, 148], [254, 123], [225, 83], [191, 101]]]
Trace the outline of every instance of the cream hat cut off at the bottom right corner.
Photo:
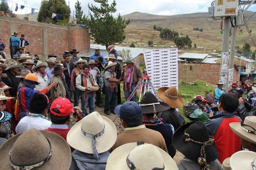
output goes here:
[[256, 153], [252, 151], [239, 151], [230, 158], [232, 170], [253, 170], [256, 168]]

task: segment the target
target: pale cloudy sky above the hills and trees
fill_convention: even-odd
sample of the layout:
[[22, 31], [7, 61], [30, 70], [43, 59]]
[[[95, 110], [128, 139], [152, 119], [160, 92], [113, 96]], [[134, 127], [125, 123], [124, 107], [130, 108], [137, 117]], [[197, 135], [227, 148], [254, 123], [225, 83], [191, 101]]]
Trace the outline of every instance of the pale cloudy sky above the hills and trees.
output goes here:
[[[31, 13], [31, 8], [40, 8], [41, 0], [7, 0], [9, 7], [15, 9], [16, 3], [20, 8], [24, 5], [23, 10], [18, 9], [18, 14]], [[66, 3], [70, 3], [71, 12], [75, 10], [76, 0], [66, 0]], [[80, 0], [83, 13], [88, 14], [87, 4], [98, 4], [93, 0]], [[109, 0], [111, 3], [112, 0]], [[145, 12], [151, 14], [159, 15], [174, 15], [174, 14], [184, 14], [184, 13], [195, 13], [195, 12], [208, 12], [208, 7], [210, 7], [212, 1], [209, 0], [116, 0], [117, 3], [117, 14], [125, 15], [132, 12]], [[256, 5], [254, 5], [256, 6]], [[255, 9], [255, 10], [254, 10]], [[256, 7], [250, 8], [252, 11], [256, 11]]]

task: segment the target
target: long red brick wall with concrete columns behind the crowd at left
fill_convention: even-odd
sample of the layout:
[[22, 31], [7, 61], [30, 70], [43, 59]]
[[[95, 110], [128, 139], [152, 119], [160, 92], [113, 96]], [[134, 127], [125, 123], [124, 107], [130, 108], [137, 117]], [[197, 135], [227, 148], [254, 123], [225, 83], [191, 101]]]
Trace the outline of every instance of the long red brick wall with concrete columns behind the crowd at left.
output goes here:
[[27, 51], [33, 54], [61, 55], [66, 50], [77, 49], [82, 52], [90, 48], [90, 36], [87, 28], [63, 27], [0, 17], [0, 38], [6, 44], [6, 53], [9, 53], [8, 41], [14, 31], [19, 33], [18, 36], [21, 34], [26, 36], [25, 38], [30, 43]]

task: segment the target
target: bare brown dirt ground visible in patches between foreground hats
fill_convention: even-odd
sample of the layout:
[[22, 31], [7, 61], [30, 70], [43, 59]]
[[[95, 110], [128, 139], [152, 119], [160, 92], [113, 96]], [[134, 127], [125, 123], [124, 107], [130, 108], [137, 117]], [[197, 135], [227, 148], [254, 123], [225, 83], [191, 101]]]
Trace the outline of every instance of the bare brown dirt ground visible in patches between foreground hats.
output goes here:
[[[120, 123], [120, 119], [115, 115], [115, 114], [112, 114], [110, 116], [107, 116], [105, 113], [104, 113], [104, 107], [100, 108], [100, 107], [97, 107], [96, 106], [96, 109], [95, 111], [99, 112], [102, 116], [106, 116], [108, 117], [109, 119], [111, 119], [112, 122], [115, 123], [116, 125], [116, 129], [117, 129], [117, 134], [121, 133], [122, 132], [122, 127], [121, 127], [121, 123]], [[87, 112], [88, 112], [88, 108], [87, 108]], [[72, 123], [71, 123], [71, 126], [73, 126], [73, 124], [76, 123], [76, 120], [75, 119], [72, 119]], [[183, 154], [181, 154], [179, 151], [176, 152], [175, 154], [175, 157], [174, 157], [174, 161], [176, 163], [179, 163], [181, 159], [183, 159]]]

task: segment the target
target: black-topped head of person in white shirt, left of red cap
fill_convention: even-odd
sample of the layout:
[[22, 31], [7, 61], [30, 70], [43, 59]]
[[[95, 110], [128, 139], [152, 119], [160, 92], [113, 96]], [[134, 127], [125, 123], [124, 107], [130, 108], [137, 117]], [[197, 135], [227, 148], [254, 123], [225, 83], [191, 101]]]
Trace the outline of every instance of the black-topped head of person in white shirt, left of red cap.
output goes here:
[[42, 93], [35, 93], [30, 99], [29, 111], [40, 114], [48, 107], [48, 97]]

